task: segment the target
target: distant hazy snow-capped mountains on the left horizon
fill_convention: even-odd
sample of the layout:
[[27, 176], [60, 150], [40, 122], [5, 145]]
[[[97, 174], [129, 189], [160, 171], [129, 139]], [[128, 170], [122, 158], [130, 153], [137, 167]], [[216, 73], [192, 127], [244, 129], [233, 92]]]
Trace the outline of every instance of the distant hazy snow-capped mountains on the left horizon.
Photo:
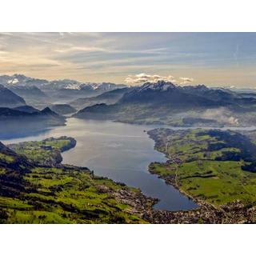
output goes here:
[[23, 74], [2, 75], [0, 76], [0, 84], [24, 98], [29, 105], [41, 109], [50, 104], [94, 97], [106, 91], [126, 87], [111, 82], [83, 83], [71, 79], [48, 81], [26, 77]]

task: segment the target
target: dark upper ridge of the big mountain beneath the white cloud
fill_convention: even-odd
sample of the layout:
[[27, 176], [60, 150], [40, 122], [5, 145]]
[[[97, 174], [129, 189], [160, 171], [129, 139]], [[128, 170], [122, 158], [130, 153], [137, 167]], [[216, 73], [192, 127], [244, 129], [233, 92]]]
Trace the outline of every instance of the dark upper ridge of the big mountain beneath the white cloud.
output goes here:
[[[118, 103], [157, 102], [163, 104], [183, 104], [183, 106], [225, 106], [242, 99], [239, 94], [226, 89], [212, 89], [204, 85], [175, 86], [172, 82], [146, 82], [143, 86], [124, 94]], [[245, 99], [246, 101], [247, 99]], [[255, 101], [256, 102], [256, 101]]]

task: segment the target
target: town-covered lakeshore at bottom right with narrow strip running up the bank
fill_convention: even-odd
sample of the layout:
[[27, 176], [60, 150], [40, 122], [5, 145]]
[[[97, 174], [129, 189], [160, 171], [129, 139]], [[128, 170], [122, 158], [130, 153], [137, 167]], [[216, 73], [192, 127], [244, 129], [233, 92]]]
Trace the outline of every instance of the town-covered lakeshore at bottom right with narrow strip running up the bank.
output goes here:
[[[150, 137], [152, 140], [154, 138]], [[222, 206], [216, 206], [205, 200], [196, 198], [188, 194], [186, 191], [182, 190], [177, 184], [176, 177], [174, 175], [163, 175], [158, 174], [152, 168], [154, 163], [160, 163], [162, 165], [168, 165], [171, 161], [170, 156], [165, 152], [158, 150], [157, 142], [154, 140], [154, 150], [161, 152], [166, 155], [166, 162], [151, 162], [148, 171], [150, 174], [157, 175], [170, 186], [174, 186], [181, 194], [186, 195], [187, 198], [193, 200], [193, 202], [198, 204], [198, 208], [193, 210], [178, 210], [178, 211], [168, 211], [168, 210], [154, 210], [153, 218], [151, 221], [161, 224], [238, 224], [238, 223], [255, 223], [256, 218], [256, 206], [245, 206], [239, 200], [227, 203]]]

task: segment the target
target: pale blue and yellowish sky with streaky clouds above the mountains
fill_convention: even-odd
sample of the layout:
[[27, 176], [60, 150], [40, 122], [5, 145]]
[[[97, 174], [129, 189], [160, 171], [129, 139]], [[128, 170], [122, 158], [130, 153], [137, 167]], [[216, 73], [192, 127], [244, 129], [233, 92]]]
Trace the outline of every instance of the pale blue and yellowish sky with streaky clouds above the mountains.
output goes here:
[[0, 74], [256, 87], [256, 33], [5, 33]]

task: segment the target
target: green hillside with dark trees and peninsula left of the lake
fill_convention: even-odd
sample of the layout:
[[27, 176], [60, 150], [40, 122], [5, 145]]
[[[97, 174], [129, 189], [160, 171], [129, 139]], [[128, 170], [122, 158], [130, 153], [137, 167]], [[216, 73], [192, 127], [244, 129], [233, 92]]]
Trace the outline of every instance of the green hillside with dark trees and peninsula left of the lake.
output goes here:
[[18, 154], [0, 145], [0, 222], [146, 223], [142, 215], [154, 202], [140, 190], [86, 168], [40, 165], [67, 143], [50, 138], [12, 145]]

